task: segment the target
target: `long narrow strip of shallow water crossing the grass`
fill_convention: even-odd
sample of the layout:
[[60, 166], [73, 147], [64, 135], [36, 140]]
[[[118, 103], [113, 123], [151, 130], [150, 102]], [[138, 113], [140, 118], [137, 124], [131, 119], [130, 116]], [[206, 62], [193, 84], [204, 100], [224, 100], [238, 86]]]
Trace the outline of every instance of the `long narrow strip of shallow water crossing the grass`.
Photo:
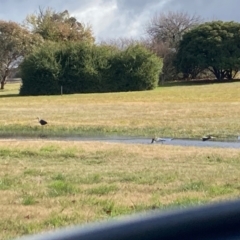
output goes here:
[[[18, 140], [18, 141], [34, 141], [43, 139], [44, 141], [57, 140], [57, 141], [95, 141], [95, 142], [109, 142], [109, 143], [122, 143], [122, 144], [151, 144], [150, 138], [144, 137], [61, 137], [61, 138], [1, 138], [0, 141]], [[219, 147], [219, 148], [240, 148], [240, 139], [236, 140], [209, 140], [202, 141], [198, 139], [171, 139], [164, 138], [162, 142], [155, 142], [151, 145], [175, 145], [175, 146], [193, 146], [193, 147]]]

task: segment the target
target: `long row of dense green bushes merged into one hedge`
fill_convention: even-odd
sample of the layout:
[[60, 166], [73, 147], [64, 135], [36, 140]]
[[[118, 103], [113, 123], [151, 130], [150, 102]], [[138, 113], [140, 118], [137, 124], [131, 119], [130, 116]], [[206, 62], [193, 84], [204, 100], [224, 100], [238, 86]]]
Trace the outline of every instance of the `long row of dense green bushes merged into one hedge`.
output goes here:
[[124, 50], [48, 42], [21, 64], [21, 95], [141, 91], [158, 85], [162, 61], [140, 44]]

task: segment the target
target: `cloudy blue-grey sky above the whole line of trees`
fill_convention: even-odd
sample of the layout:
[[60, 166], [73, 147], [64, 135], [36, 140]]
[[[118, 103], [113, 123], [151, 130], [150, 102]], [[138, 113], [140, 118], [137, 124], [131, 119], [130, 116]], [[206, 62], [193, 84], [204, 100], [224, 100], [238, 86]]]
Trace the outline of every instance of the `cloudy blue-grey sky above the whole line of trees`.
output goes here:
[[169, 11], [198, 15], [205, 21], [240, 22], [239, 0], [0, 0], [0, 20], [22, 23], [39, 7], [68, 10], [79, 22], [92, 26], [96, 41], [145, 37], [156, 15]]

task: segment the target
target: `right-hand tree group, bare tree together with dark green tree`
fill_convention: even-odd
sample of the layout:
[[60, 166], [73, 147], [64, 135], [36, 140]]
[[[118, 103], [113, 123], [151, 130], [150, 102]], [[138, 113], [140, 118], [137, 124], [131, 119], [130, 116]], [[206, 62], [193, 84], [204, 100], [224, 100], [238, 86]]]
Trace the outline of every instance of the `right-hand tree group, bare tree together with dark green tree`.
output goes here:
[[232, 80], [240, 69], [238, 22], [204, 22], [195, 15], [169, 12], [152, 18], [147, 30], [152, 49], [163, 58], [162, 82]]

